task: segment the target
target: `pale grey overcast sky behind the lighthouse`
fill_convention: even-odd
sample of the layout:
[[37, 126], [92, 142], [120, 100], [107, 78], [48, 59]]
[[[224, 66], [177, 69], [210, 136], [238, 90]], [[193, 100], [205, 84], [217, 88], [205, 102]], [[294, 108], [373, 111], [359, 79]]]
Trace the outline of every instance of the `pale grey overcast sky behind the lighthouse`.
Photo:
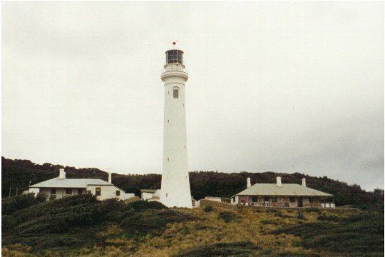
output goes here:
[[161, 173], [160, 74], [175, 40], [190, 76], [190, 171], [384, 188], [383, 8], [3, 2], [2, 155]]

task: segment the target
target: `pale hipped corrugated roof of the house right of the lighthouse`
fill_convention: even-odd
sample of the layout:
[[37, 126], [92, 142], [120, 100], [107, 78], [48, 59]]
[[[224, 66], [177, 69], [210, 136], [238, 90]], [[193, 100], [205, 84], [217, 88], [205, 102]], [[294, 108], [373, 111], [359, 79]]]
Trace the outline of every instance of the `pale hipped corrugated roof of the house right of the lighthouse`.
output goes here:
[[[256, 183], [235, 196], [333, 196], [295, 183]], [[233, 197], [233, 196], [232, 196]]]

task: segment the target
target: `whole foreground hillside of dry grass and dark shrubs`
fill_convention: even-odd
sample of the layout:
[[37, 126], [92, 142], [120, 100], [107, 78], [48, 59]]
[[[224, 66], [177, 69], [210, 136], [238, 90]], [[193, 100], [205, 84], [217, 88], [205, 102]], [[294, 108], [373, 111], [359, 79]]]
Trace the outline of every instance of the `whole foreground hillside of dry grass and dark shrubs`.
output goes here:
[[3, 256], [384, 256], [384, 213], [72, 196], [2, 202]]

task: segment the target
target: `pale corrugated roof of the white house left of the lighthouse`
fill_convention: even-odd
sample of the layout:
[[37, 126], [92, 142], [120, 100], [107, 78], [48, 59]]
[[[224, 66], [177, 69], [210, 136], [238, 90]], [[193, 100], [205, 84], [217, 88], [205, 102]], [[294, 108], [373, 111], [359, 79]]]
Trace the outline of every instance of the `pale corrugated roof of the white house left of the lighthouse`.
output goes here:
[[103, 181], [99, 178], [51, 178], [48, 181], [43, 181], [31, 185], [36, 188], [86, 188], [88, 185], [96, 186], [113, 186], [112, 183]]

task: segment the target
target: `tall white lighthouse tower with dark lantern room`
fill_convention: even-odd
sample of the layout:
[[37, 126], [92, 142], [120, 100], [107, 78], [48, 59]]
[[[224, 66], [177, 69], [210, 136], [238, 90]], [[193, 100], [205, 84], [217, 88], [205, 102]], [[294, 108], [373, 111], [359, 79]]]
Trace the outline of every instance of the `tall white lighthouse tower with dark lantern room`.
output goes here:
[[192, 208], [185, 114], [185, 81], [188, 74], [183, 65], [183, 51], [173, 49], [166, 51], [165, 55], [165, 72], [160, 76], [165, 83], [160, 202], [168, 207]]

